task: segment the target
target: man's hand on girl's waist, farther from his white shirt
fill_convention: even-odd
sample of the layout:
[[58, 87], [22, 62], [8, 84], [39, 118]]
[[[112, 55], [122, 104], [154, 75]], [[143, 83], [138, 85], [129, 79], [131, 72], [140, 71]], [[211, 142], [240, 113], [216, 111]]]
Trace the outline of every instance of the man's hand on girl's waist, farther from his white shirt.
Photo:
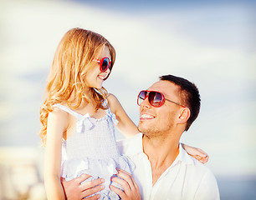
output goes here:
[[[88, 197], [90, 195], [98, 193], [105, 188], [103, 185], [101, 185], [101, 183], [104, 183], [103, 178], [98, 178], [93, 181], [80, 184], [84, 182], [87, 178], [90, 178], [90, 175], [83, 174], [79, 178], [74, 178], [71, 181], [65, 181], [64, 178], [61, 178], [60, 181], [62, 183], [66, 198], [68, 200], [81, 200], [84, 197]], [[99, 198], [100, 194], [95, 194], [90, 198], [85, 199], [95, 200]]]

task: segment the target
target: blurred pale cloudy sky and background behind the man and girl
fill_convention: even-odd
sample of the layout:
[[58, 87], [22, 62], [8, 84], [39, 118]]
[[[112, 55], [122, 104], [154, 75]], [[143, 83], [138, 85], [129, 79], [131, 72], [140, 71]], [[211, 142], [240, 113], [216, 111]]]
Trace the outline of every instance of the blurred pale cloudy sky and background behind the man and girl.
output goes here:
[[0, 0], [0, 199], [45, 199], [39, 106], [55, 48], [76, 27], [99, 32], [115, 47], [104, 86], [136, 124], [137, 93], [159, 76], [195, 82], [202, 109], [182, 143], [210, 155], [221, 199], [255, 199], [255, 5]]

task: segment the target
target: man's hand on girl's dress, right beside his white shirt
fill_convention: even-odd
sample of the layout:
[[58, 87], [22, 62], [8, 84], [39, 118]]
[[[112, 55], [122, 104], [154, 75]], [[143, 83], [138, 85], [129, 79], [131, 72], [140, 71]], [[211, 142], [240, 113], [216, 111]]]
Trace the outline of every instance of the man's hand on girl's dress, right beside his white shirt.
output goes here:
[[119, 183], [124, 189], [122, 191], [115, 186], [110, 185], [110, 189], [117, 193], [122, 200], [141, 200], [141, 192], [136, 183], [132, 178], [131, 173], [127, 173], [122, 169], [117, 169], [118, 173], [115, 174], [117, 177], [111, 178], [111, 181]]

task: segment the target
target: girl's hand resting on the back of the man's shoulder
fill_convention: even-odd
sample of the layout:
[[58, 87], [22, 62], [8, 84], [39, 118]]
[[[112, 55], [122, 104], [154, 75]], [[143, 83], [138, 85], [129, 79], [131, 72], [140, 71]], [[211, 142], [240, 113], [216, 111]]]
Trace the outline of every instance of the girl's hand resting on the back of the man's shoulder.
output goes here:
[[205, 164], [208, 162], [209, 156], [201, 148], [193, 148], [183, 143], [182, 148], [184, 148], [189, 155], [196, 158], [200, 163]]

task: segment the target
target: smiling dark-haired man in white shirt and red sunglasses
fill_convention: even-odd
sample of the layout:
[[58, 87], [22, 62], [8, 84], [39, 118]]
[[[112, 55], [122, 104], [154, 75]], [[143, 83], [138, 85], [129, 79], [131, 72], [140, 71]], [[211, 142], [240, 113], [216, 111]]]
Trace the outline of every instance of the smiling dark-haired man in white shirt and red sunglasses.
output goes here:
[[[162, 76], [140, 92], [138, 104], [141, 133], [119, 143], [121, 153], [136, 165], [136, 183], [120, 171], [118, 176], [124, 180], [113, 181], [120, 183], [124, 192], [111, 189], [123, 199], [138, 199], [137, 186], [142, 199], [219, 199], [218, 184], [211, 171], [189, 156], [179, 142], [199, 113], [197, 87], [182, 77]], [[131, 193], [136, 195], [131, 197]]]

